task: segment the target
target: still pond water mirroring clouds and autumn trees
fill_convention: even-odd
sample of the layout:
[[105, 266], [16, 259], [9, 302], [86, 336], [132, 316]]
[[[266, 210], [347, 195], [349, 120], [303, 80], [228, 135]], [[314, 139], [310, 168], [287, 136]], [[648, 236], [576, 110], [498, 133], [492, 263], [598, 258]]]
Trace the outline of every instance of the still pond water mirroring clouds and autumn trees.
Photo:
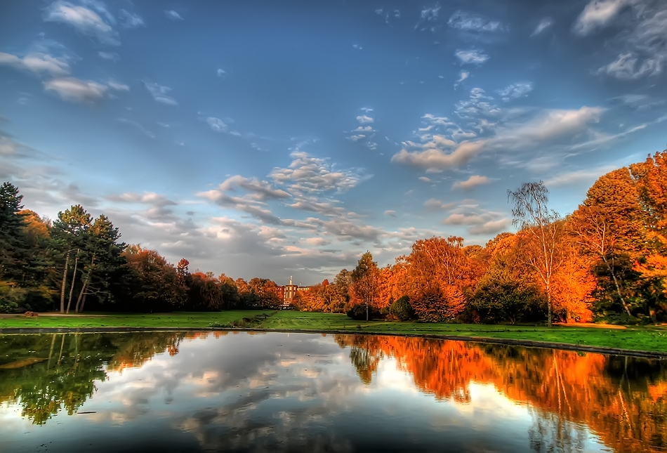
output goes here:
[[663, 452], [667, 363], [392, 336], [0, 336], [0, 452]]

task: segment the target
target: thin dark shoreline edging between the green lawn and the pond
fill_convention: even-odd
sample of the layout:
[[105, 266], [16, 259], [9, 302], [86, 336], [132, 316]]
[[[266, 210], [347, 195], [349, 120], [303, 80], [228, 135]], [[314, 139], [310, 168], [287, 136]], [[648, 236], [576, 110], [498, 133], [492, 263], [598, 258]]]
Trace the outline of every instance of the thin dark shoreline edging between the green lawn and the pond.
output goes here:
[[446, 334], [407, 334], [402, 332], [382, 331], [353, 331], [341, 329], [265, 329], [243, 327], [4, 327], [0, 328], [0, 335], [12, 334], [75, 334], [75, 333], [131, 333], [145, 331], [242, 331], [242, 332], [276, 332], [282, 334], [343, 334], [343, 335], [381, 335], [404, 336], [410, 338], [427, 338], [448, 341], [470, 341], [473, 343], [503, 344], [510, 346], [524, 346], [528, 348], [574, 350], [585, 353], [605, 355], [621, 355], [628, 357], [642, 357], [654, 360], [667, 360], [666, 352], [651, 350], [633, 350], [623, 348], [605, 348], [602, 346], [588, 346], [572, 343], [557, 343], [550, 341], [498, 339], [485, 336], [461, 336]]

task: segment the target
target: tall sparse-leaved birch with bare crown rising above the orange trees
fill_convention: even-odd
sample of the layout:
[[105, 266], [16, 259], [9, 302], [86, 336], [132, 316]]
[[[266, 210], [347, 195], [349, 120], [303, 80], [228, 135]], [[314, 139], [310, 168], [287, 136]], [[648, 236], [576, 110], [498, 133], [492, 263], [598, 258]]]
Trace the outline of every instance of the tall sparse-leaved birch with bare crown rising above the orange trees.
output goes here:
[[542, 181], [523, 183], [514, 192], [507, 191], [513, 203], [513, 224], [521, 230], [524, 260], [539, 275], [546, 289], [547, 325], [551, 327], [552, 280], [562, 261], [558, 242], [562, 235], [560, 216], [548, 208], [548, 193]]

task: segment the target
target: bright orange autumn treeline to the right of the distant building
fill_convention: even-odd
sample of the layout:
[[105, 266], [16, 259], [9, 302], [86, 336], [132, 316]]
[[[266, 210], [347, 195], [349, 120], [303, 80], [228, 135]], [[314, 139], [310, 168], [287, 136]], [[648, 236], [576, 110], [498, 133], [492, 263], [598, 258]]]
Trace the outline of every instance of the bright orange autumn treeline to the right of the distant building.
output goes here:
[[366, 252], [333, 284], [298, 294], [296, 308], [360, 320], [667, 321], [667, 151], [601, 176], [564, 218], [541, 182], [508, 199], [516, 233], [484, 247], [421, 239], [384, 268]]

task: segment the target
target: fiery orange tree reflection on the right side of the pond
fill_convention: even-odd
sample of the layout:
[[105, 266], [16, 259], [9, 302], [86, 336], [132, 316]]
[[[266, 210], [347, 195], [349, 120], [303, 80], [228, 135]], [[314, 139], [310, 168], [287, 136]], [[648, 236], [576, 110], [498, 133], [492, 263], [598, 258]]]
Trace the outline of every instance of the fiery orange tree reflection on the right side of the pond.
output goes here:
[[[393, 336], [336, 335], [370, 383], [366, 357], [394, 357], [415, 386], [439, 400], [470, 402], [471, 383], [531, 407], [536, 452], [583, 451], [585, 426], [619, 451], [667, 446], [667, 364], [576, 351]], [[364, 351], [363, 348], [367, 350]], [[363, 360], [362, 358], [363, 357]], [[371, 370], [369, 372], [369, 370]]]

